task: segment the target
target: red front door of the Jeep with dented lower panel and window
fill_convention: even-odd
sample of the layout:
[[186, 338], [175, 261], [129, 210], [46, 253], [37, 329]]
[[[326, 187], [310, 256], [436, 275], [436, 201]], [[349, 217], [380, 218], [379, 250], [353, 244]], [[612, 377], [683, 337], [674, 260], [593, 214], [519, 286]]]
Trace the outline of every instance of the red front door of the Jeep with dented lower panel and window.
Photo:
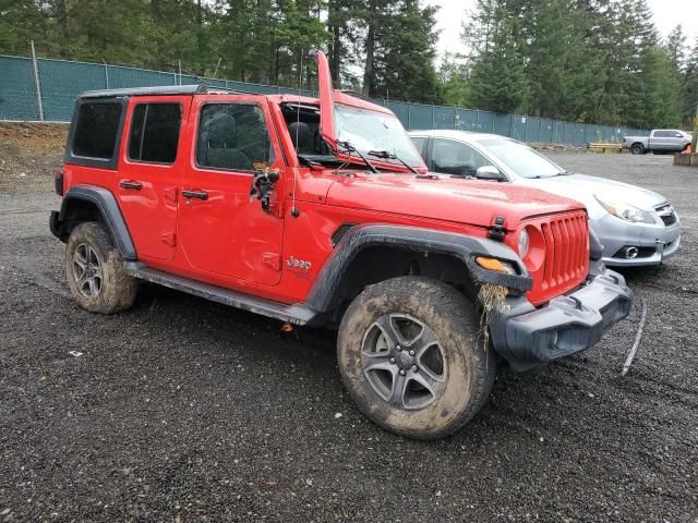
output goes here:
[[[189, 166], [181, 180], [178, 236], [203, 276], [275, 285], [284, 219], [250, 199], [255, 171], [284, 168], [267, 101], [254, 95], [194, 98]], [[257, 171], [258, 172], [258, 171]]]

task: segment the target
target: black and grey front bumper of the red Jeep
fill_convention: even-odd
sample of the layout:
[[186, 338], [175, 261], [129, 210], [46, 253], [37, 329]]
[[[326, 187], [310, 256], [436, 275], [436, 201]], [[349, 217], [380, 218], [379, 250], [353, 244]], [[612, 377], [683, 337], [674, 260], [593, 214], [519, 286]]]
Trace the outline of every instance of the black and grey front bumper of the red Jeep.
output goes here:
[[[592, 263], [593, 264], [593, 263]], [[517, 373], [593, 346], [630, 312], [633, 292], [623, 276], [594, 264], [586, 284], [535, 308], [524, 296], [509, 296], [508, 309], [490, 323], [495, 351]]]

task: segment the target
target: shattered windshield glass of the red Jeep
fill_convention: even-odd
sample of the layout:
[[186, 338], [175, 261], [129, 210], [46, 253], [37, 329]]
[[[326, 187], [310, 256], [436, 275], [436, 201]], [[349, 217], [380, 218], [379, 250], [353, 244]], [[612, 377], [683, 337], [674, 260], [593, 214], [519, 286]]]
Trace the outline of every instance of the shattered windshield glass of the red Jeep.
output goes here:
[[412, 167], [424, 166], [405, 127], [393, 114], [336, 104], [335, 134], [337, 141], [349, 142], [364, 155], [385, 150]]

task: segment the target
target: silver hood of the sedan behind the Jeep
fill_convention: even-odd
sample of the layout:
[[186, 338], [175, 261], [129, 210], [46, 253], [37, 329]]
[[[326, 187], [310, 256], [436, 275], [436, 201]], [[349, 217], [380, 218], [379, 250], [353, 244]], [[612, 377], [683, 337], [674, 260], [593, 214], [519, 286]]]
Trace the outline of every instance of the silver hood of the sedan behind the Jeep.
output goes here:
[[538, 180], [517, 181], [529, 187], [537, 187], [568, 198], [577, 199], [585, 204], [591, 212], [599, 203], [594, 195], [634, 205], [640, 209], [652, 211], [660, 204], [666, 202], [661, 194], [648, 191], [629, 183], [615, 182], [603, 178], [588, 177], [586, 174], [567, 174], [563, 177], [543, 178]]

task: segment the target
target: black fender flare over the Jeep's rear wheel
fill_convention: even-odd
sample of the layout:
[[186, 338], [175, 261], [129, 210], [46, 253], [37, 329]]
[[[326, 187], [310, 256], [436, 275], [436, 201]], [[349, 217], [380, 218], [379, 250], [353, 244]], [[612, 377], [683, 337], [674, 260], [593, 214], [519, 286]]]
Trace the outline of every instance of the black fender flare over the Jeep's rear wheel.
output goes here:
[[[58, 216], [51, 218], [51, 231], [53, 231], [53, 229], [58, 231], [61, 230], [61, 223], [63, 223], [70, 215], [71, 203], [75, 200], [88, 202], [97, 208], [107, 229], [109, 229], [111, 233], [115, 246], [123, 259], [129, 262], [135, 262], [137, 259], [131, 233], [123, 219], [117, 198], [111, 191], [105, 187], [95, 185], [75, 185], [72, 187], [63, 197], [61, 210], [57, 214]], [[56, 232], [53, 233], [62, 241], [67, 240], [67, 238], [63, 239]]]

